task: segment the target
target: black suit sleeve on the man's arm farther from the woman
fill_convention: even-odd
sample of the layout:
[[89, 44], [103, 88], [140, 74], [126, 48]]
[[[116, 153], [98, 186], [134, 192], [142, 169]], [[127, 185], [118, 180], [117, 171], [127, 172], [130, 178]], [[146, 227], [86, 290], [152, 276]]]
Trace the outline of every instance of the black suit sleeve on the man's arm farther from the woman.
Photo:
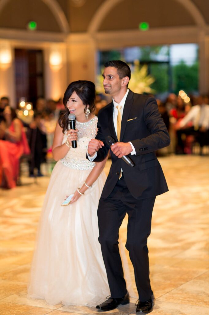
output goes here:
[[136, 155], [147, 154], [168, 146], [170, 144], [169, 133], [154, 98], [150, 97], [147, 99], [144, 106], [143, 119], [150, 135], [142, 139], [131, 140], [136, 150]]

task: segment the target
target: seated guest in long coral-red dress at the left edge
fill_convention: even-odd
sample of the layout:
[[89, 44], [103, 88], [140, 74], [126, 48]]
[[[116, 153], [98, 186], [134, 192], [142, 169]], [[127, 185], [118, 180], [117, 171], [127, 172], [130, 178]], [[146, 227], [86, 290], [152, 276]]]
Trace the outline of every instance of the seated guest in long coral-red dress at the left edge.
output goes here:
[[0, 123], [0, 186], [13, 188], [19, 175], [19, 158], [29, 154], [30, 149], [15, 110], [6, 106], [3, 117], [4, 121]]

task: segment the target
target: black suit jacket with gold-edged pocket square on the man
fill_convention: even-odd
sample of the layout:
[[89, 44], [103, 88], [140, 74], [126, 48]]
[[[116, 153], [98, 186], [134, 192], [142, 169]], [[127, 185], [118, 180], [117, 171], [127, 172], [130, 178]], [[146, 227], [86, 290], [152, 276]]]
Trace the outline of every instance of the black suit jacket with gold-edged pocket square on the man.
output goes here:
[[[108, 135], [118, 141], [113, 124], [113, 102], [102, 108], [98, 114], [96, 139], [102, 140], [105, 146], [97, 152], [95, 162], [104, 160], [110, 149], [105, 142]], [[129, 90], [123, 109], [120, 141], [131, 141], [133, 144], [136, 155], [130, 154], [129, 157], [135, 166], [129, 166], [110, 150], [112, 165], [101, 197], [107, 198], [110, 195], [121, 168], [126, 185], [134, 198], [151, 198], [168, 191], [155, 151], [168, 146], [170, 138], [154, 98]]]

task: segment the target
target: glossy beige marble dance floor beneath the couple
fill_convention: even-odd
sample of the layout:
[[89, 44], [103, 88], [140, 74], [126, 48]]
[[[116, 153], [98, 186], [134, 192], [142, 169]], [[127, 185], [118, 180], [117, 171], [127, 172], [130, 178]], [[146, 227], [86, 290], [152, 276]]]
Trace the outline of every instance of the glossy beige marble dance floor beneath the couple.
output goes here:
[[[156, 199], [148, 239], [153, 315], [209, 315], [209, 158], [160, 157], [169, 192]], [[108, 172], [109, 163], [105, 167]], [[47, 171], [45, 169], [45, 171]], [[49, 176], [23, 177], [22, 186], [0, 189], [0, 314], [104, 314], [84, 306], [49, 306], [27, 299], [35, 232]], [[121, 238], [126, 240], [125, 218]], [[127, 253], [128, 257], [128, 253]], [[131, 277], [134, 277], [131, 263]], [[106, 314], [135, 314], [136, 299]]]

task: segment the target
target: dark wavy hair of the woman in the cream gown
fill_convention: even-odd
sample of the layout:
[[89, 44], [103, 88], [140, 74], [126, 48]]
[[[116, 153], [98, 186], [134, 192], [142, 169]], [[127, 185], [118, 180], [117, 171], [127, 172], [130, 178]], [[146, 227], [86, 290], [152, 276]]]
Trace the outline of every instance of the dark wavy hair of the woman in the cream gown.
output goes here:
[[[91, 81], [86, 80], [79, 80], [70, 83], [65, 91], [63, 97], [63, 104], [65, 106], [65, 111], [60, 115], [58, 123], [60, 127], [62, 127], [62, 132], [64, 133], [67, 130], [69, 120], [69, 110], [67, 108], [67, 101], [71, 97], [72, 93], [76, 92], [78, 97], [82, 100], [83, 105], [89, 105], [88, 109], [92, 113], [95, 109], [95, 84]], [[85, 107], [84, 112], [86, 111], [87, 107]]]

